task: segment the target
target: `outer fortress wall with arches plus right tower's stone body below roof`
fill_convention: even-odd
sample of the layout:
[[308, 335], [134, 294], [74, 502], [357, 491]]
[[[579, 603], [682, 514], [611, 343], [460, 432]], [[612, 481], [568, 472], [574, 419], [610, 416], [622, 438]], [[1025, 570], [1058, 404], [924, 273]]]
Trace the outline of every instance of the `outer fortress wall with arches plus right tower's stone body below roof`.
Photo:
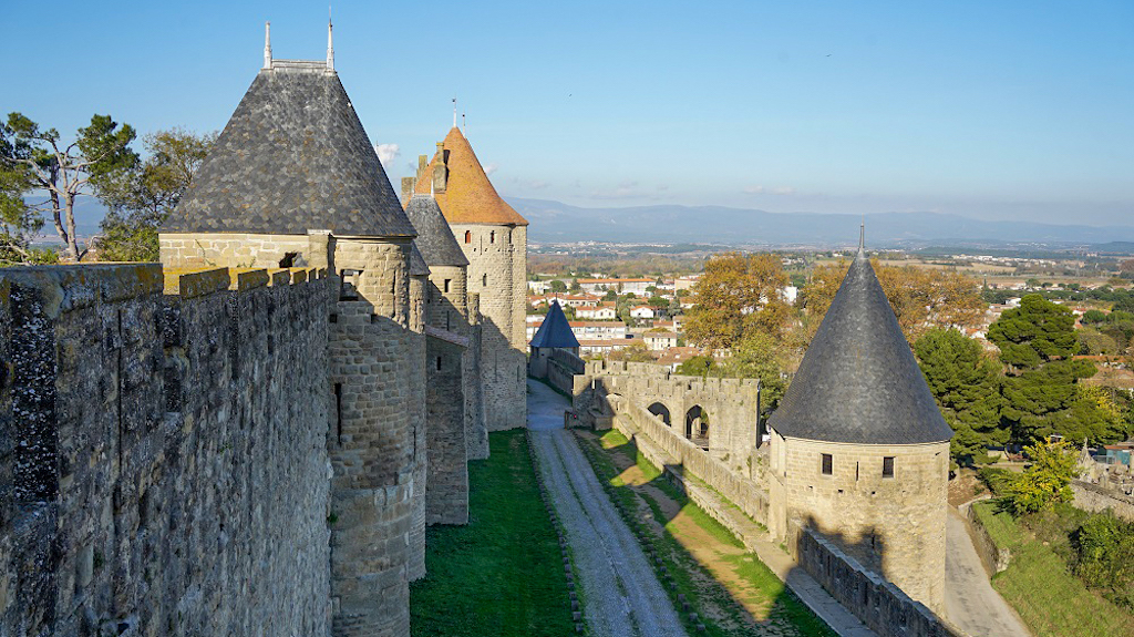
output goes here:
[[[555, 351], [549, 380], [569, 374], [573, 358]], [[682, 376], [649, 363], [601, 360], [586, 362], [573, 381], [574, 409], [584, 424], [612, 426], [634, 440], [726, 526], [730, 517], [719, 510], [719, 500], [703, 496], [699, 483], [769, 527], [801, 567], [879, 635], [964, 635], [934, 613], [940, 609], [932, 601], [943, 597], [943, 536], [922, 528], [945, 527], [939, 474], [947, 442], [785, 444], [779, 436], [779, 444], [758, 447], [758, 381]], [[658, 405], [667, 408], [668, 423]], [[686, 428], [685, 414], [694, 407], [709, 414], [708, 449]], [[822, 473], [822, 453], [838, 458], [832, 475]], [[894, 477], [882, 476], [887, 457], [895, 458]], [[743, 536], [742, 529], [733, 530]]]

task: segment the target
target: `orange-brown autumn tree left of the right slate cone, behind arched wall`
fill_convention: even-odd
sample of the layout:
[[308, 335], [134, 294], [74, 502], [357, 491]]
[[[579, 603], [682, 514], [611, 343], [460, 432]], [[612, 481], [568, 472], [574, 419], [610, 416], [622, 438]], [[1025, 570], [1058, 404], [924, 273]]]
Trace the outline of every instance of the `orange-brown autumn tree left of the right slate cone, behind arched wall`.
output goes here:
[[782, 336], [790, 307], [780, 296], [787, 286], [780, 258], [771, 254], [725, 253], [705, 263], [693, 287], [695, 306], [686, 337], [708, 349], [733, 347], [748, 331]]

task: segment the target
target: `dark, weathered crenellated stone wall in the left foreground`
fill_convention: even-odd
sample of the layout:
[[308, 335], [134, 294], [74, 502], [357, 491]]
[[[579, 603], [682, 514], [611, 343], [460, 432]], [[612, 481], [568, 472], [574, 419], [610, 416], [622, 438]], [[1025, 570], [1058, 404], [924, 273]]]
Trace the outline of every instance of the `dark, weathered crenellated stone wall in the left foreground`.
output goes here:
[[0, 272], [0, 634], [329, 631], [327, 286]]

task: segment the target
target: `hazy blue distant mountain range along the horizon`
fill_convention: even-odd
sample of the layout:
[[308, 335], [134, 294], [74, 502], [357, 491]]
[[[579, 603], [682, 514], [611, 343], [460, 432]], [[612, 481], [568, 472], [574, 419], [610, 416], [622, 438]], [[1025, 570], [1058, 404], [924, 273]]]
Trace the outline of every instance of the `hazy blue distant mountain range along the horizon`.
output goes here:
[[[722, 206], [653, 205], [577, 207], [544, 199], [508, 198], [531, 223], [531, 241], [708, 243], [841, 247], [858, 243], [861, 216], [818, 212], [776, 213]], [[871, 247], [930, 245], [993, 247], [1035, 244], [1070, 247], [1134, 241], [1129, 226], [1058, 226], [981, 221], [936, 212], [866, 215]]]

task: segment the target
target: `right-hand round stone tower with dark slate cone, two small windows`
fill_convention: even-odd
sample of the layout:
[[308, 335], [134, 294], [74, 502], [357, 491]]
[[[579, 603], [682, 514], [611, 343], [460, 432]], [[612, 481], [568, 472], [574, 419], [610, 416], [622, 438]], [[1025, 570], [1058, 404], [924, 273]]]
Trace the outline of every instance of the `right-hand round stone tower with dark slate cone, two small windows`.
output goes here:
[[943, 611], [953, 431], [861, 244], [768, 425], [772, 534], [811, 527]]

